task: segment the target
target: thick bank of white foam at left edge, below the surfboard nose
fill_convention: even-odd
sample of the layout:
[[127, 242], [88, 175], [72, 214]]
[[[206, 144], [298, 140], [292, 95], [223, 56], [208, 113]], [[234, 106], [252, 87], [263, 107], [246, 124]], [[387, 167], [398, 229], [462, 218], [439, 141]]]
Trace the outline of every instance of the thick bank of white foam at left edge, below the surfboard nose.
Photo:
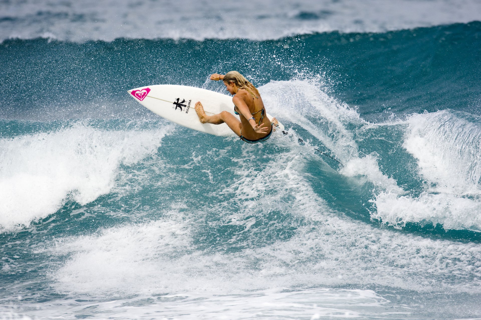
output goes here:
[[166, 128], [99, 130], [77, 123], [53, 132], [0, 140], [0, 225], [29, 225], [68, 200], [86, 204], [108, 193], [120, 164], [155, 152]]

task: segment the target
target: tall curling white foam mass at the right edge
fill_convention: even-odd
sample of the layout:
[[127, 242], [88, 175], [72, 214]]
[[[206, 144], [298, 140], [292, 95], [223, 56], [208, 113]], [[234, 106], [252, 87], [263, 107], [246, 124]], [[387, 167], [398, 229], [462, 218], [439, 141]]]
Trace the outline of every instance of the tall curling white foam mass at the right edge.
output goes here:
[[426, 189], [419, 196], [381, 192], [374, 217], [391, 225], [432, 222], [481, 231], [481, 127], [448, 110], [407, 119], [405, 149], [418, 160]]

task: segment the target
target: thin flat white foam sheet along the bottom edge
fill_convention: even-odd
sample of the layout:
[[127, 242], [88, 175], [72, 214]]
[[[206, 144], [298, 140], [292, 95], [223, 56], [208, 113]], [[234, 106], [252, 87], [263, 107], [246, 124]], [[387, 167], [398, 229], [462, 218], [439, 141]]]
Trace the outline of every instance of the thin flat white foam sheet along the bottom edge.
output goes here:
[[[25, 305], [18, 304], [19, 309]], [[25, 306], [26, 310], [29, 308]], [[390, 308], [386, 312], [386, 308]], [[0, 306], [0, 317], [2, 309]], [[10, 308], [12, 309], [12, 308]], [[72, 319], [101, 312], [108, 319], [320, 319], [320, 317], [369, 318], [408, 315], [402, 306], [392, 305], [372, 290], [348, 289], [266, 289], [250, 293], [216, 295], [198, 291], [162, 296], [136, 296], [110, 301], [56, 300], [35, 311], [23, 311], [35, 319]], [[29, 320], [18, 313], [5, 312], [3, 319]], [[1, 319], [1, 318], [0, 318]]]

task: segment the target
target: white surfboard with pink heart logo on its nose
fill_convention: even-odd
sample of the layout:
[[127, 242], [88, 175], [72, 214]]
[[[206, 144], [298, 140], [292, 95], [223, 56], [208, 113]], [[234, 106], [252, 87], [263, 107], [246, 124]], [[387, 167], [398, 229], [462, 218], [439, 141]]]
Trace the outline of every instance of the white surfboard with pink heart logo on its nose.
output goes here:
[[[128, 93], [144, 107], [159, 116], [181, 126], [214, 134], [216, 136], [235, 136], [227, 124], [214, 125], [201, 123], [194, 106], [200, 101], [207, 115], [222, 111], [234, 114], [232, 97], [218, 92], [176, 84], [157, 84], [128, 90]], [[239, 116], [236, 116], [239, 119]], [[272, 117], [267, 114], [269, 119]], [[278, 131], [284, 130], [279, 122]]]

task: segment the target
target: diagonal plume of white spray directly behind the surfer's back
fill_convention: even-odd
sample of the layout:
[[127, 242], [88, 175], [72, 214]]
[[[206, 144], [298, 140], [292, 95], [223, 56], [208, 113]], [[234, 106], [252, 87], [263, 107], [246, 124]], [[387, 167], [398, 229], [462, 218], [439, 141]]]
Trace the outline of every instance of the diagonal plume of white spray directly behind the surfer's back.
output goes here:
[[404, 193], [394, 179], [380, 171], [376, 154], [359, 154], [353, 127], [367, 122], [355, 109], [326, 94], [321, 77], [270, 82], [259, 90], [278, 118], [297, 123], [341, 160], [342, 174], [361, 178], [360, 182], [367, 180], [381, 190]]

